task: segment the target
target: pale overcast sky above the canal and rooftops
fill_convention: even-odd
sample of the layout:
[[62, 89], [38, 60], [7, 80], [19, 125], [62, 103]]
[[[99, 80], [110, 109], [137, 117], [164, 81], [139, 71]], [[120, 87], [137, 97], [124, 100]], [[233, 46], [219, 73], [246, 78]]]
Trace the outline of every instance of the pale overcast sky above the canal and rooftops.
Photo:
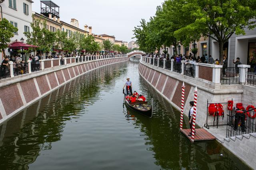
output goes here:
[[[60, 6], [60, 20], [79, 21], [79, 27], [92, 26], [92, 33], [114, 35], [116, 40], [132, 41], [134, 26], [142, 18], [154, 16], [156, 6], [164, 0], [52, 0]], [[34, 0], [32, 10], [40, 13], [40, 0]]]

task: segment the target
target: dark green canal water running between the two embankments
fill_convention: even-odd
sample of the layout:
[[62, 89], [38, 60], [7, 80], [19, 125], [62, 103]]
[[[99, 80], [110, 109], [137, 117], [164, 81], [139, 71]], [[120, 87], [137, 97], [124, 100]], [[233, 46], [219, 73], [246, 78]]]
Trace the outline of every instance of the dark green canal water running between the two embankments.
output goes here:
[[[138, 63], [93, 70], [0, 125], [0, 169], [248, 169], [216, 141], [190, 143], [179, 111], [144, 82]], [[123, 105], [126, 77], [154, 98], [151, 119]]]

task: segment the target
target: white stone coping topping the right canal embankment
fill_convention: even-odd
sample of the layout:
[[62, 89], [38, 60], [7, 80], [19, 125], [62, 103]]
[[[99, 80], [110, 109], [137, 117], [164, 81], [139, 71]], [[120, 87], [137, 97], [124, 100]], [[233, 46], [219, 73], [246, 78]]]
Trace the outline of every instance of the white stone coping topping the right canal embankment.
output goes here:
[[221, 85], [220, 83], [213, 83], [213, 82], [212, 84], [209, 84], [207, 80], [206, 80], [207, 82], [205, 82], [205, 81], [202, 81], [203, 79], [185, 76], [183, 74], [179, 74], [176, 72], [172, 72], [170, 70], [166, 70], [164, 68], [153, 66], [152, 64], [148, 64], [142, 61], [140, 61], [140, 63], [149, 68], [152, 68], [153, 70], [161, 72], [166, 76], [170, 76], [176, 80], [186, 82], [187, 84], [190, 84], [190, 86], [197, 86], [200, 90], [204, 90], [211, 94], [242, 94], [244, 92], [242, 90], [241, 84]]

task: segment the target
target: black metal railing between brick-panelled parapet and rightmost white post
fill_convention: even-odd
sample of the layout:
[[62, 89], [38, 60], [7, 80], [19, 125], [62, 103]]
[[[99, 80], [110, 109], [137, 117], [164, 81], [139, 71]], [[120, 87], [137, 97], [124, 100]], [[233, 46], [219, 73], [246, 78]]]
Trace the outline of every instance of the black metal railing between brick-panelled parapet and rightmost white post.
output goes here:
[[240, 67], [222, 68], [220, 73], [221, 84], [240, 84]]

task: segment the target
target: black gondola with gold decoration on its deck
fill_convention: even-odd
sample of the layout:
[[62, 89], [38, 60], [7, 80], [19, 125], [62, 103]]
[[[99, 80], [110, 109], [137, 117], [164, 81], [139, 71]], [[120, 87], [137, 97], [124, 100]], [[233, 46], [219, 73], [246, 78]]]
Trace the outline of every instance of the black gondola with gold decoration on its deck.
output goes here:
[[[132, 109], [142, 115], [145, 115], [150, 118], [152, 117], [152, 114], [153, 114], [152, 106], [148, 105], [148, 102], [136, 101], [136, 102], [130, 103], [128, 100], [126, 100], [125, 97], [126, 97], [126, 95], [124, 94], [124, 100], [125, 100], [124, 102], [127, 107], [129, 107], [130, 109]], [[153, 100], [151, 103], [153, 105]]]

